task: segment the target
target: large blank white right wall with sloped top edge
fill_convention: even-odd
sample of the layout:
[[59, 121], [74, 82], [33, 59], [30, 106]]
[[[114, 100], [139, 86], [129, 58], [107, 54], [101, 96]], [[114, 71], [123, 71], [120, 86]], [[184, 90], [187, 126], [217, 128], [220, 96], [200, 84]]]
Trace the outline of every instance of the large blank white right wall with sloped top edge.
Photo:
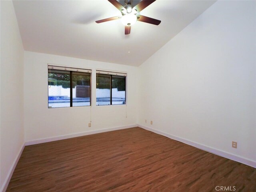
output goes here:
[[256, 1], [216, 2], [139, 68], [140, 124], [256, 162]]

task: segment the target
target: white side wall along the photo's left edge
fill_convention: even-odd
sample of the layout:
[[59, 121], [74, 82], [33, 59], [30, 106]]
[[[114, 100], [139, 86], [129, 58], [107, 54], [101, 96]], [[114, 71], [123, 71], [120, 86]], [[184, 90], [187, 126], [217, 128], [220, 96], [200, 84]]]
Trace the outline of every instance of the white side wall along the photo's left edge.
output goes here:
[[24, 144], [24, 50], [12, 1], [1, 1], [1, 190]]

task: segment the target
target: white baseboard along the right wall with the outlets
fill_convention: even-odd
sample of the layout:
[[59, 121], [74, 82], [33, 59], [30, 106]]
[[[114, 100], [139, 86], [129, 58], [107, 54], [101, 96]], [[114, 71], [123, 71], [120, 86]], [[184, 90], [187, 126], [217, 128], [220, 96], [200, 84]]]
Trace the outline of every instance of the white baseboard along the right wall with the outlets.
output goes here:
[[256, 168], [256, 162], [253, 161], [253, 160], [250, 160], [250, 159], [247, 159], [247, 158], [244, 158], [244, 157], [241, 157], [241, 156], [237, 156], [237, 155], [234, 155], [234, 154], [222, 151], [222, 150], [218, 150], [218, 149], [215, 149], [215, 148], [212, 148], [210, 146], [206, 146], [206, 145], [203, 145], [203, 144], [200, 144], [200, 143], [197, 143], [197, 142], [186, 140], [184, 138], [180, 138], [178, 136], [174, 136], [174, 135], [168, 134], [166, 132], [162, 132], [162, 131], [159, 131], [159, 130], [156, 130], [156, 129], [153, 129], [153, 128], [150, 128], [150, 127], [147, 127], [147, 126], [144, 126], [144, 125], [137, 124], [137, 126], [140, 127], [140, 128], [143, 128], [145, 130], [148, 130], [148, 131], [166, 136], [166, 137], [171, 138], [173, 140], [180, 141], [182, 143], [194, 146], [194, 147], [202, 149], [204, 151], [216, 154], [218, 156], [222, 156], [222, 157], [234, 160], [236, 162], [240, 162], [242, 164], [246, 164], [248, 166]]

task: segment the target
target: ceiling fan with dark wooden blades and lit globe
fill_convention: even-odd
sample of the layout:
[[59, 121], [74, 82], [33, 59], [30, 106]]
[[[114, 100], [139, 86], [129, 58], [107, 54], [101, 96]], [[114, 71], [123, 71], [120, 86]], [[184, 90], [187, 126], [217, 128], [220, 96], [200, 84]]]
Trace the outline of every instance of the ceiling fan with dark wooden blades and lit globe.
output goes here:
[[136, 6], [132, 6], [132, 0], [125, 0], [126, 6], [122, 6], [117, 0], [108, 0], [112, 5], [114, 5], [120, 12], [122, 16], [110, 17], [102, 20], [96, 21], [96, 23], [102, 23], [112, 20], [121, 19], [122, 23], [125, 25], [124, 34], [128, 35], [131, 32], [131, 25], [136, 21], [145, 22], [153, 25], [159, 25], [161, 23], [160, 20], [153, 19], [150, 17], [146, 17], [143, 15], [137, 15], [137, 13], [141, 12], [144, 8], [152, 4], [156, 0], [142, 0]]

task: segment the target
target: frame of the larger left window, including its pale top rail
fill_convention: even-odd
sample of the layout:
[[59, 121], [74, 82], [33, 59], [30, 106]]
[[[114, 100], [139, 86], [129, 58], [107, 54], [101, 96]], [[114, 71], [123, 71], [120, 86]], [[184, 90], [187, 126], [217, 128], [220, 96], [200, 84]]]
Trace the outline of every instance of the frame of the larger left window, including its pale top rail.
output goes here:
[[[55, 108], [72, 108], [72, 107], [91, 107], [92, 106], [92, 70], [90, 69], [81, 69], [81, 68], [71, 68], [71, 67], [63, 67], [63, 66], [52, 66], [52, 65], [48, 65], [48, 75], [49, 75], [49, 69], [51, 70], [50, 67], [53, 67], [52, 70], [54, 70], [54, 67], [56, 68], [63, 68], [63, 69], [56, 69], [56, 70], [62, 70], [62, 71], [68, 71], [70, 74], [70, 106], [68, 107], [49, 107], [49, 87], [47, 89], [47, 93], [48, 93], [48, 109], [55, 109]], [[74, 69], [74, 70], [88, 70], [90, 72], [82, 72], [82, 73], [89, 73], [90, 74], [90, 105], [88, 106], [73, 106], [73, 88], [72, 88], [72, 72], [73, 70], [66, 70], [67, 69]], [[65, 73], [64, 73], [65, 74]], [[49, 78], [48, 78], [48, 86], [49, 86]]]

